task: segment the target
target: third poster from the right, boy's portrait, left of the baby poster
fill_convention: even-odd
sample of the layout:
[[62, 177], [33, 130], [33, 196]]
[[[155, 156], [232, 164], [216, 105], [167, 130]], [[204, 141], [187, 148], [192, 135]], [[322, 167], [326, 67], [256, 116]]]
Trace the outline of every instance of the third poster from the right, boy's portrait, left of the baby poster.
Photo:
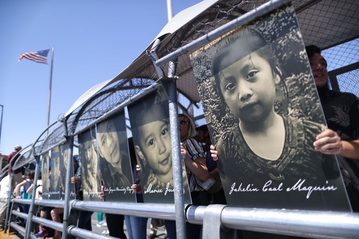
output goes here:
[[136, 202], [131, 189], [132, 169], [127, 143], [125, 111], [97, 124], [97, 144], [105, 200]]

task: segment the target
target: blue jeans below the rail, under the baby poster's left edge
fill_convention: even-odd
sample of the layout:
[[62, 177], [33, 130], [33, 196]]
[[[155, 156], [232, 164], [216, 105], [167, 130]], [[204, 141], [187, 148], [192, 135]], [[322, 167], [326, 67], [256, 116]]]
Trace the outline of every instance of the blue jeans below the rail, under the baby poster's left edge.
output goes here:
[[146, 239], [148, 218], [125, 216], [125, 223], [129, 239]]

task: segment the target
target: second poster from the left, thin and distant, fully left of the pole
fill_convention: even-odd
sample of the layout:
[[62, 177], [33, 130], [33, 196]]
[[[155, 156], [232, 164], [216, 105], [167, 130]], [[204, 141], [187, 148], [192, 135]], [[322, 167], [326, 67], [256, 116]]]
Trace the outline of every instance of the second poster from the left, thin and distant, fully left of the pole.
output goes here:
[[51, 175], [49, 199], [60, 200], [60, 149], [59, 146], [51, 150]]

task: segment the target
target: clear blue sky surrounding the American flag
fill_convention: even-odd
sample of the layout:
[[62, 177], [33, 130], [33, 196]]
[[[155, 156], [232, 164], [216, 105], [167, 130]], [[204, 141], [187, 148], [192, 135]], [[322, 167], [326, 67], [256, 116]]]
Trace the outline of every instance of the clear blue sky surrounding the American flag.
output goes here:
[[[199, 2], [173, 0], [173, 13]], [[0, 1], [0, 151], [31, 144], [46, 128], [50, 63], [18, 62], [20, 54], [55, 46], [52, 123], [90, 87], [125, 69], [166, 23], [165, 0]]]

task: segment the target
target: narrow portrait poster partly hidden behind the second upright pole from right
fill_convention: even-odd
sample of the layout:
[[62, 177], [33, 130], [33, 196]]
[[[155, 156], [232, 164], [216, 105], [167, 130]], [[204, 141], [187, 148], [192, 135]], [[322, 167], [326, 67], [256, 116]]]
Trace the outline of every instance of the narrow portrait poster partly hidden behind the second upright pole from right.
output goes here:
[[[65, 200], [65, 188], [66, 188], [66, 172], [67, 172], [67, 159], [69, 156], [69, 144], [65, 143], [60, 145], [60, 192], [61, 200]], [[74, 176], [73, 164], [71, 165], [71, 177]], [[70, 183], [70, 200], [75, 199], [75, 185]]]

